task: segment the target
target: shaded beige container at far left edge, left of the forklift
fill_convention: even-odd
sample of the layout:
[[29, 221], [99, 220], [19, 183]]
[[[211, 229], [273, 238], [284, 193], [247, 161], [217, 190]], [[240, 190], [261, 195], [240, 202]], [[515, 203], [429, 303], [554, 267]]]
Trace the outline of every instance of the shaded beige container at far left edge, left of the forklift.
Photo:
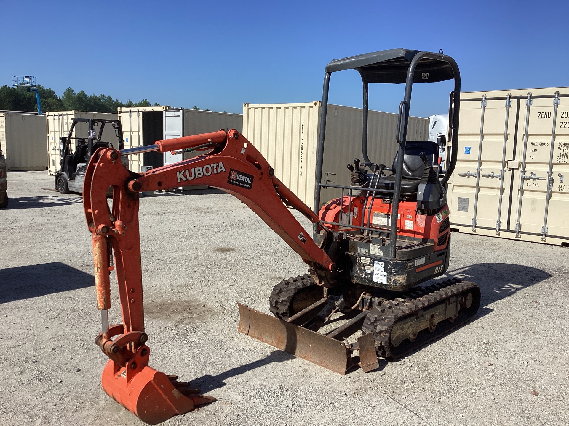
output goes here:
[[46, 116], [0, 112], [0, 146], [7, 170], [46, 170]]

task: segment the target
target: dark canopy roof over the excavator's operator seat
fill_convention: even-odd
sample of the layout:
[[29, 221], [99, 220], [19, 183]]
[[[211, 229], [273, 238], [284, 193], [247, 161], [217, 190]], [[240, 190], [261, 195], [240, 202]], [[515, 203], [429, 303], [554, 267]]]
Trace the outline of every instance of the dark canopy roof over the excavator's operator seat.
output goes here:
[[[405, 83], [411, 60], [420, 53], [409, 49], [365, 53], [335, 59], [326, 65], [326, 72], [356, 69], [370, 83]], [[451, 64], [444, 60], [422, 59], [415, 69], [414, 83], [432, 83], [454, 78]]]

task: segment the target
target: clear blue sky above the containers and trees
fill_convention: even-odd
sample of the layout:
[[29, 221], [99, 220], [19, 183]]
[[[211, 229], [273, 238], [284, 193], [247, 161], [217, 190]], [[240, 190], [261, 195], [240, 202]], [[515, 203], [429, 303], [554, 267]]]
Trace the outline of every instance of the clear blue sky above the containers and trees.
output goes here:
[[[568, 16], [568, 1], [1, 0], [0, 85], [242, 112], [321, 99], [330, 60], [404, 47], [442, 48], [463, 91], [567, 86]], [[370, 108], [396, 112], [403, 86], [374, 86]], [[415, 87], [411, 114], [446, 112], [449, 82]], [[330, 102], [361, 106], [356, 72], [332, 75]]]

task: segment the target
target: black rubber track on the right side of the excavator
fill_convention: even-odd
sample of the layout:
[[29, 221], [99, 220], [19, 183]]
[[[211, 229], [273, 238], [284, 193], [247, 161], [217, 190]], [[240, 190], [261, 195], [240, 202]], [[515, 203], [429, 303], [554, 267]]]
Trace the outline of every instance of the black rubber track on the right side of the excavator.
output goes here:
[[[471, 289], [475, 290], [473, 291], [474, 300], [472, 306], [470, 308], [461, 307], [459, 315], [452, 323], [448, 319], [440, 321], [434, 332], [423, 330], [419, 332], [414, 342], [406, 339], [397, 348], [391, 345], [391, 329], [393, 329], [393, 325], [399, 319]], [[466, 323], [476, 314], [479, 306], [480, 290], [476, 283], [462, 282], [457, 278], [448, 279], [428, 287], [408, 290], [402, 293], [400, 297], [382, 303], [369, 312], [362, 326], [362, 332], [373, 333], [378, 356], [390, 359], [400, 358], [407, 353], [413, 352], [420, 346], [438, 339], [452, 329], [460, 327], [460, 325]]]

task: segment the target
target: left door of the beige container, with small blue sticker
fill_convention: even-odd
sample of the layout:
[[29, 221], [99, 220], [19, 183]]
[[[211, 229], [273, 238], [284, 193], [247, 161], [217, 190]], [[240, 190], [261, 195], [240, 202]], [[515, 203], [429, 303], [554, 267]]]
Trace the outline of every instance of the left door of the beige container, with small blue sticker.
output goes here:
[[[507, 119], [507, 122], [506, 122]], [[460, 101], [460, 135], [452, 194], [451, 221], [461, 231], [492, 231], [508, 227], [516, 110], [506, 98]], [[463, 228], [464, 227], [464, 228]], [[486, 232], [483, 232], [486, 233]]]

